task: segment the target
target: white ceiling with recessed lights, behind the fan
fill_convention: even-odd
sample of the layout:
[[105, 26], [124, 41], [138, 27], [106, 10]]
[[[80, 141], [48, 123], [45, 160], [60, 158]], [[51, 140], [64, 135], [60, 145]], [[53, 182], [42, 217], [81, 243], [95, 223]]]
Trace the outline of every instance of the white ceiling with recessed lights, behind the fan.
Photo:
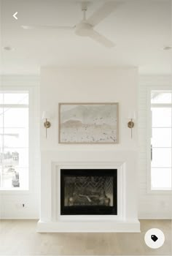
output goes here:
[[[138, 67], [141, 74], [171, 74], [171, 0], [121, 0], [96, 26], [116, 43], [108, 49], [73, 31], [24, 30], [21, 25], [74, 26], [82, 19], [79, 0], [1, 0], [4, 74], [36, 74], [41, 66]], [[105, 1], [90, 1], [87, 16]], [[12, 15], [18, 12], [17, 18]]]

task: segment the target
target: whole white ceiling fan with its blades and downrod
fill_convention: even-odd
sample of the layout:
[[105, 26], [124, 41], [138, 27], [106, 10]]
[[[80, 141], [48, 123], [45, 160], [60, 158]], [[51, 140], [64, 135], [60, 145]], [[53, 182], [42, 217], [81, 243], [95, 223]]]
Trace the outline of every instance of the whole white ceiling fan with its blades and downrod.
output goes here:
[[89, 1], [81, 2], [81, 10], [83, 12], [82, 20], [75, 26], [28, 26], [22, 25], [23, 29], [73, 29], [75, 34], [80, 37], [90, 37], [106, 48], [114, 47], [114, 42], [99, 34], [94, 30], [94, 27], [98, 25], [103, 19], [110, 15], [117, 7], [119, 2], [107, 1], [98, 10], [96, 10], [90, 18], [86, 18], [87, 6]]

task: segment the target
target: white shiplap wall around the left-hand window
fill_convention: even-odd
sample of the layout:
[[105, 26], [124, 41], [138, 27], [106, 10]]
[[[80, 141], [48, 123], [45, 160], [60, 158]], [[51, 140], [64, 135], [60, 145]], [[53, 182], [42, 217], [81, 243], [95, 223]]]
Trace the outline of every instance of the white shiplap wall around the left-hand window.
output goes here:
[[[1, 76], [0, 90], [14, 88], [21, 91], [29, 90], [31, 93], [30, 182], [29, 191], [0, 190], [0, 219], [38, 219], [40, 198], [39, 78], [20, 75]], [[24, 208], [23, 203], [25, 204]]]

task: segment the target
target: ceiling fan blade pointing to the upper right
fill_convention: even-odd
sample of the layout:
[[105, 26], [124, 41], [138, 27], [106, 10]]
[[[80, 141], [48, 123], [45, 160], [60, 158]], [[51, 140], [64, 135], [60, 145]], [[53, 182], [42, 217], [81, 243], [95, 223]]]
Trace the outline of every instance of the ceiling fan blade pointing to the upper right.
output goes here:
[[96, 10], [90, 18], [87, 19], [87, 22], [95, 26], [109, 16], [120, 3], [117, 1], [107, 1], [103, 4], [98, 10]]

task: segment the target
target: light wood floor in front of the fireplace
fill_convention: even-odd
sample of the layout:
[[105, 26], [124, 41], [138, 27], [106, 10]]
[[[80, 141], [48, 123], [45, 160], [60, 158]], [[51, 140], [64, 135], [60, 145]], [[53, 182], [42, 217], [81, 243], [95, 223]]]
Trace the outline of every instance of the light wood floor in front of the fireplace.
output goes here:
[[[165, 234], [160, 249], [150, 249], [144, 234]], [[36, 220], [1, 220], [0, 255], [172, 255], [171, 220], [141, 220], [141, 233], [36, 233]]]

